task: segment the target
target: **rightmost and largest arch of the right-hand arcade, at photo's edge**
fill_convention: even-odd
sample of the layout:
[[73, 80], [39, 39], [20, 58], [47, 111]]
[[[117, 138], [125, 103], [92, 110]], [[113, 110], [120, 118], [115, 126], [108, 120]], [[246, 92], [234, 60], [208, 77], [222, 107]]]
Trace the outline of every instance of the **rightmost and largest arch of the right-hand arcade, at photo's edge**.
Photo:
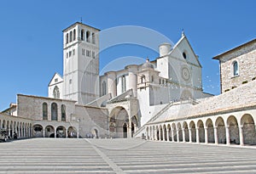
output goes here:
[[249, 114], [241, 117], [243, 143], [256, 144], [255, 122], [253, 116]]

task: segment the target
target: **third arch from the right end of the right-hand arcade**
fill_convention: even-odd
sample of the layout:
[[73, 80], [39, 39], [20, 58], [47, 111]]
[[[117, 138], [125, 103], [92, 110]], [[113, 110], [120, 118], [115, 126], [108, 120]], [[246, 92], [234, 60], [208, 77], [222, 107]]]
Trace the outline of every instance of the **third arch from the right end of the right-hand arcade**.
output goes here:
[[226, 131], [225, 131], [224, 119], [219, 116], [215, 121], [215, 126], [217, 127], [218, 143], [226, 143]]

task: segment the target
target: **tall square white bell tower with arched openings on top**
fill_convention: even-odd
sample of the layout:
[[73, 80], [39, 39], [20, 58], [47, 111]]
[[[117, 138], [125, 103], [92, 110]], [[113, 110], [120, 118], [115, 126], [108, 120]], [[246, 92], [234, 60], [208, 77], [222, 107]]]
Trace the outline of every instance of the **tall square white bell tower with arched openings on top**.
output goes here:
[[99, 29], [76, 22], [63, 30], [63, 98], [88, 104], [99, 96]]

